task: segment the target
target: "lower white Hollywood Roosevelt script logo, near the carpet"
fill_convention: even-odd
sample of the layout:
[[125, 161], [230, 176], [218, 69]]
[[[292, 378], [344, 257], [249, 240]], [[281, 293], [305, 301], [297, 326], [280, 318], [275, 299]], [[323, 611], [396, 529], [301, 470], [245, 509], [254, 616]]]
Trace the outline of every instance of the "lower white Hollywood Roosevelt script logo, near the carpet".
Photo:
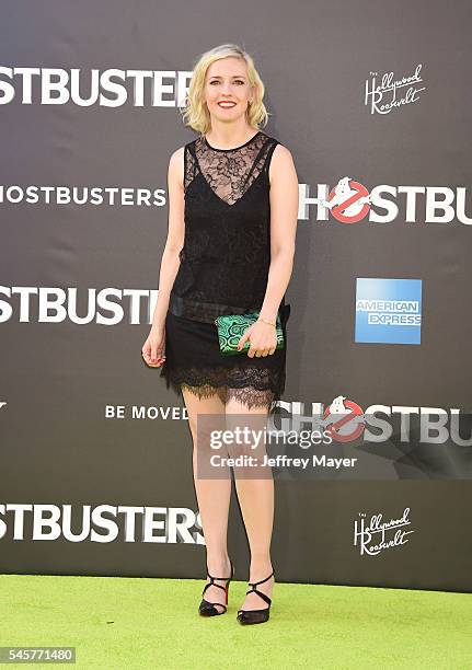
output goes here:
[[354, 521], [354, 546], [359, 547], [361, 556], [378, 556], [383, 550], [406, 544], [406, 535], [414, 532], [406, 530], [412, 523], [408, 515], [410, 507], [405, 507], [400, 519], [383, 521], [383, 515], [379, 513], [372, 515], [367, 522], [367, 515], [359, 512], [359, 519]]

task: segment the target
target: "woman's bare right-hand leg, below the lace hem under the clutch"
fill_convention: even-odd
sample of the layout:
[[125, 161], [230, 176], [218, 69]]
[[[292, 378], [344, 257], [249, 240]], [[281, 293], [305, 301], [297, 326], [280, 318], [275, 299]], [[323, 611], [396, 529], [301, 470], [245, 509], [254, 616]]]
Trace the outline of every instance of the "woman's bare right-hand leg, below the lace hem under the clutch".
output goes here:
[[[244, 390], [228, 389], [226, 405], [227, 429], [246, 425], [251, 430], [263, 431], [267, 426], [268, 404], [247, 407], [244, 402]], [[251, 393], [254, 401], [255, 394]], [[264, 401], [264, 393], [261, 402]], [[256, 402], [256, 401], [255, 401]], [[238, 415], [238, 416], [237, 416]], [[257, 435], [257, 432], [256, 432]], [[263, 435], [261, 432], [260, 435]], [[238, 453], [256, 455], [258, 463], [263, 462], [266, 453], [264, 442], [254, 449], [254, 440], [244, 448], [238, 447]], [[247, 465], [234, 467], [234, 480], [238, 500], [244, 520], [250, 543], [251, 566], [249, 581], [260, 581], [270, 575], [273, 567], [270, 561], [270, 540], [274, 523], [274, 478], [269, 466]], [[257, 587], [260, 591], [272, 597], [274, 577]], [[260, 610], [267, 607], [256, 593], [245, 597], [243, 610]]]

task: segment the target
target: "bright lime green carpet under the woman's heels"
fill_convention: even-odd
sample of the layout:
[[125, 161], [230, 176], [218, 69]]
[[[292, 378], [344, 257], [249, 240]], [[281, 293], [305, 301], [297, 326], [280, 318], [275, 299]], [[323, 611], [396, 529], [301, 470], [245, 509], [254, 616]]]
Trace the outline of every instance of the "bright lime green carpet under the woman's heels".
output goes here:
[[472, 668], [468, 593], [276, 584], [270, 620], [241, 626], [246, 585], [210, 619], [197, 614], [203, 585], [0, 575], [0, 646], [73, 646], [91, 669]]

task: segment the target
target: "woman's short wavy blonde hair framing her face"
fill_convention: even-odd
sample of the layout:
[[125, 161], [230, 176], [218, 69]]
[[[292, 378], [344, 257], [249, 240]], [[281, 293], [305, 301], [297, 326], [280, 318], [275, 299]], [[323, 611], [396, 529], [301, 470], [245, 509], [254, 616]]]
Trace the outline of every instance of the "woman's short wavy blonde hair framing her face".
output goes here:
[[250, 54], [237, 44], [221, 44], [198, 57], [193, 68], [185, 105], [180, 108], [184, 124], [200, 132], [200, 135], [205, 135], [211, 127], [210, 115], [204, 99], [207, 70], [216, 60], [228, 58], [229, 56], [241, 58], [245, 61], [250, 84], [255, 85], [254, 102], [247, 105], [246, 111], [249, 125], [260, 130], [267, 125], [268, 117], [270, 116], [263, 103], [265, 86]]

